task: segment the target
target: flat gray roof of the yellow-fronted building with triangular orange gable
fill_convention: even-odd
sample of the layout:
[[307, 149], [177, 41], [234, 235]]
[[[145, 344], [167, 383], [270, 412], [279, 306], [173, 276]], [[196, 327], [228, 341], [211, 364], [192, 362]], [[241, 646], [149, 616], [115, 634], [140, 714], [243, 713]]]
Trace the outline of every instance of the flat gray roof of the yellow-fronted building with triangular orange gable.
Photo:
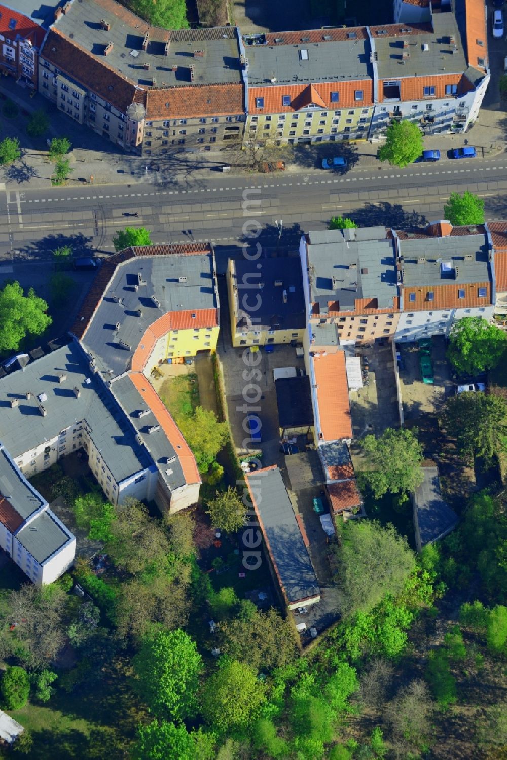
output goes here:
[[[284, 33], [280, 33], [280, 38]], [[301, 51], [306, 54], [301, 55]], [[246, 46], [251, 87], [372, 78], [369, 40]], [[306, 57], [305, 57], [306, 56]], [[276, 77], [276, 81], [271, 82]]]

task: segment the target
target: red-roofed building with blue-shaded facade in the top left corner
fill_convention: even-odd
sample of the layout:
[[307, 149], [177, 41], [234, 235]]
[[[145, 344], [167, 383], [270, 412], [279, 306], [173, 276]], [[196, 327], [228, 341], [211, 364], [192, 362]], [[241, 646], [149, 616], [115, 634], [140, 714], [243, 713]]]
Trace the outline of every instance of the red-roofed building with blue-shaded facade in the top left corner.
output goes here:
[[0, 5], [0, 71], [36, 89], [39, 51], [45, 35], [33, 18]]

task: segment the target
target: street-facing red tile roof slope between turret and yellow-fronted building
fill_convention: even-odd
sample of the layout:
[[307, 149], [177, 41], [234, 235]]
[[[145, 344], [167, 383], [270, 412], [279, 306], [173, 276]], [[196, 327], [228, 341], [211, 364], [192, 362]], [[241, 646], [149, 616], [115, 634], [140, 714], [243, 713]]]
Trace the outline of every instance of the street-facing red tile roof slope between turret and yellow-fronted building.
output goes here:
[[243, 100], [240, 82], [152, 88], [146, 93], [146, 118], [239, 116], [245, 112]]

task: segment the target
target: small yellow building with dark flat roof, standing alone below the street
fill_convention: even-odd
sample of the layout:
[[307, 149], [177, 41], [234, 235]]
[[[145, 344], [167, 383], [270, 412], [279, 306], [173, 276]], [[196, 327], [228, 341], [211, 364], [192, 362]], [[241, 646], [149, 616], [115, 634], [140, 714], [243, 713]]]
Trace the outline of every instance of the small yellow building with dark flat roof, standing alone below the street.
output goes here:
[[297, 258], [230, 258], [227, 290], [233, 347], [303, 340], [305, 299]]

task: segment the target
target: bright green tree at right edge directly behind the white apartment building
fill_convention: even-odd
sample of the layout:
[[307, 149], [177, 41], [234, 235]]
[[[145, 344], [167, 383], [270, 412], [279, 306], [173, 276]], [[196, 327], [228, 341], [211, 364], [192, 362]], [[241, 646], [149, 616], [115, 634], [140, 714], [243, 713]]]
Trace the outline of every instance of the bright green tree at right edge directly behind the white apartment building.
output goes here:
[[507, 347], [507, 336], [482, 317], [464, 317], [452, 326], [447, 358], [458, 372], [475, 375], [493, 369]]

